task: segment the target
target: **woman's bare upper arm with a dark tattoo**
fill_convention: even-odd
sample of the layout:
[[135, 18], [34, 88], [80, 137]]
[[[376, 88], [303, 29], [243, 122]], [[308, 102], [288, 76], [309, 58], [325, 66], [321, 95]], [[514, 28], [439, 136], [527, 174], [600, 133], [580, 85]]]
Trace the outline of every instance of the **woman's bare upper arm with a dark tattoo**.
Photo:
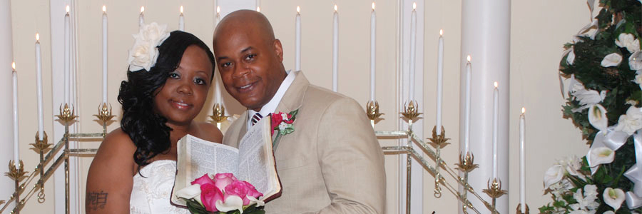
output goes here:
[[108, 134], [89, 167], [86, 213], [129, 213], [135, 151], [136, 146], [120, 128]]

